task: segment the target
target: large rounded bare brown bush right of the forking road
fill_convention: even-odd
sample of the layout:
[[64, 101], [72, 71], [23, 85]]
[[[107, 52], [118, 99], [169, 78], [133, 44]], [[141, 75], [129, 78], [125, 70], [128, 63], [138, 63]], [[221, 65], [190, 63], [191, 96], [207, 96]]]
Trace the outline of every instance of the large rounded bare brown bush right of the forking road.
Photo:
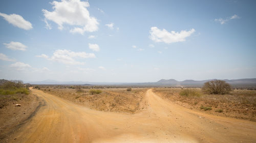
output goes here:
[[202, 90], [208, 94], [228, 94], [231, 87], [226, 81], [211, 80], [204, 83]]

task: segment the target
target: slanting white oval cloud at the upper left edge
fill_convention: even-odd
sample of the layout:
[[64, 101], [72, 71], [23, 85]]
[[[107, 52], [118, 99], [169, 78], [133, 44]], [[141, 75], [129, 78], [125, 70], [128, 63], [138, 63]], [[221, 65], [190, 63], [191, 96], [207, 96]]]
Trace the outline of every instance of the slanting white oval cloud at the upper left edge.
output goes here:
[[12, 25], [22, 28], [24, 30], [30, 30], [33, 28], [32, 24], [29, 21], [25, 20], [22, 16], [18, 14], [8, 15], [0, 12], [0, 16], [3, 16], [4, 19], [11, 23]]

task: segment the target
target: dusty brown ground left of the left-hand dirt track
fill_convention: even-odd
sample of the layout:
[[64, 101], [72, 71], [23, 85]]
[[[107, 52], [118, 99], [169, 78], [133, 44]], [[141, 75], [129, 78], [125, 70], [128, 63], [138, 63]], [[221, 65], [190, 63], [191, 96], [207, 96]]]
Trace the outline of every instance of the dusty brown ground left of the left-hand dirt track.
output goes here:
[[[0, 96], [0, 142], [24, 124], [39, 105], [37, 96], [29, 94]], [[21, 106], [15, 106], [21, 104]]]

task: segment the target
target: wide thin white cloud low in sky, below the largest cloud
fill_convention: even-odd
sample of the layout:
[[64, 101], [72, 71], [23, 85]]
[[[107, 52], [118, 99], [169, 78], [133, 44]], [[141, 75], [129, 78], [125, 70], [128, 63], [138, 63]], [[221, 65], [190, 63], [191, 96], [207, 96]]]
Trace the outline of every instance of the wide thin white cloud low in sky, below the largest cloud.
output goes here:
[[73, 51], [66, 50], [66, 49], [55, 50], [51, 57], [49, 57], [46, 54], [41, 54], [41, 55], [36, 55], [36, 56], [40, 57], [40, 58], [45, 58], [50, 61], [59, 62], [62, 64], [68, 64], [68, 65], [83, 65], [83, 64], [85, 64], [84, 62], [76, 61], [75, 60], [76, 58], [87, 59], [87, 58], [95, 58], [96, 57], [94, 53], [73, 52]]

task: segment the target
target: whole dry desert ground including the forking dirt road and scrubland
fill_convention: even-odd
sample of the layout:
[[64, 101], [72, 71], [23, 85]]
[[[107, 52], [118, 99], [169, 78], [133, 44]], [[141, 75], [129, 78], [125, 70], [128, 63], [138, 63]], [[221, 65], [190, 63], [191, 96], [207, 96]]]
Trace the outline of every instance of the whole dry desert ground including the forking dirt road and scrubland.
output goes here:
[[256, 140], [255, 90], [26, 86], [29, 93], [0, 99], [1, 142]]

